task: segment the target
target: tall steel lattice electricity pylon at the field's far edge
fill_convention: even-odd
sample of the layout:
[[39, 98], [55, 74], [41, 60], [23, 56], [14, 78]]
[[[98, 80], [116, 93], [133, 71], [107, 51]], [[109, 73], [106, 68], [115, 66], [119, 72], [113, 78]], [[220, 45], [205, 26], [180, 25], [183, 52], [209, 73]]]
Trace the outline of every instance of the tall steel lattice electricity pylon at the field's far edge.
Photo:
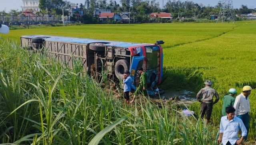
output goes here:
[[233, 23], [235, 23], [232, 0], [222, 0], [217, 23], [220, 19], [222, 23], [225, 21], [229, 23], [230, 20], [233, 20]]

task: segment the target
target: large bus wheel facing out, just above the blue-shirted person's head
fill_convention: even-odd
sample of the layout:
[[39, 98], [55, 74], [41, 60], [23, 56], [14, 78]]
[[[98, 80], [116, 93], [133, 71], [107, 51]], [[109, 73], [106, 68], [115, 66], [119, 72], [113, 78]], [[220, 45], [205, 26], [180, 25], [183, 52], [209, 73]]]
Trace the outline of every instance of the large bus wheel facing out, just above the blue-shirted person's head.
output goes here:
[[115, 74], [118, 79], [123, 79], [124, 71], [130, 70], [130, 63], [125, 59], [116, 61]]

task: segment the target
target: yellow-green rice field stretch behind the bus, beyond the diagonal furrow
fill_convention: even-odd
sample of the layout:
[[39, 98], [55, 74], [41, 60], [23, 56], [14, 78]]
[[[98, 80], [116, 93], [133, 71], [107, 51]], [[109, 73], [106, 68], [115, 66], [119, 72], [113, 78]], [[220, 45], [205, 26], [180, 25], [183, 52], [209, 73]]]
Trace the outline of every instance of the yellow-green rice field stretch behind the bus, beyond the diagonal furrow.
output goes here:
[[163, 40], [164, 48], [203, 41], [232, 31], [236, 24], [131, 24], [131, 25], [73, 25], [37, 29], [11, 30], [2, 37], [20, 41], [21, 35], [60, 35], [66, 37], [106, 39], [115, 41], [155, 43]]

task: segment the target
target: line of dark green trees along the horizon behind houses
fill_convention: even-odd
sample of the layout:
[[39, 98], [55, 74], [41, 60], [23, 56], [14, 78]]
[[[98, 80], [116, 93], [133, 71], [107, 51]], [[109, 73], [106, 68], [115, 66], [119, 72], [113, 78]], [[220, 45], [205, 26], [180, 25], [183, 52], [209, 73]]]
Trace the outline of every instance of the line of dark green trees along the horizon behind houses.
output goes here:
[[[62, 15], [62, 9], [64, 15], [68, 15], [68, 9], [72, 6], [78, 6], [79, 10], [83, 11], [82, 16], [71, 17], [71, 20], [80, 22], [83, 24], [98, 24], [101, 23], [98, 16], [93, 16], [95, 9], [109, 9], [112, 12], [130, 12], [130, 16], [134, 16], [134, 20], [137, 23], [143, 23], [150, 21], [149, 14], [168, 12], [172, 14], [174, 20], [180, 20], [180, 18], [192, 18], [192, 19], [208, 19], [211, 15], [218, 15], [220, 12], [221, 3], [218, 2], [216, 6], [204, 6], [203, 4], [197, 4], [193, 1], [181, 2], [180, 0], [168, 0], [163, 8], [160, 8], [159, 2], [156, 0], [120, 0], [120, 4], [117, 4], [116, 0], [85, 0], [84, 4], [74, 4], [67, 0], [39, 0], [40, 12], [38, 15], [50, 14], [50, 15]], [[243, 14], [254, 13], [256, 8], [250, 9], [246, 5], [241, 5], [238, 9], [233, 9], [236, 20], [241, 20], [239, 17]], [[18, 10], [11, 10], [9, 14], [18, 15], [21, 12]], [[8, 13], [5, 13], [8, 15]], [[160, 18], [156, 21], [163, 22]], [[194, 20], [193, 20], [194, 21]], [[115, 23], [110, 20], [109, 23]]]

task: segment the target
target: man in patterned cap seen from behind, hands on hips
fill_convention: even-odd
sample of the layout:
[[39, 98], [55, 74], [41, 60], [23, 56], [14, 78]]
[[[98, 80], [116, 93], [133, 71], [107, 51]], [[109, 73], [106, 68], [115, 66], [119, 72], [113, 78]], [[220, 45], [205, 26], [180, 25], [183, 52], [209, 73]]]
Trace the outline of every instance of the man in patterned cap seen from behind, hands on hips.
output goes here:
[[[207, 80], [204, 82], [205, 87], [202, 88], [196, 95], [196, 98], [199, 102], [201, 102], [201, 109], [200, 109], [200, 116], [204, 118], [204, 114], [206, 113], [206, 124], [209, 123], [209, 120], [212, 115], [212, 106], [216, 104], [219, 100], [219, 95], [214, 90], [211, 85], [212, 82]], [[215, 101], [213, 102], [213, 96], [216, 97]]]

